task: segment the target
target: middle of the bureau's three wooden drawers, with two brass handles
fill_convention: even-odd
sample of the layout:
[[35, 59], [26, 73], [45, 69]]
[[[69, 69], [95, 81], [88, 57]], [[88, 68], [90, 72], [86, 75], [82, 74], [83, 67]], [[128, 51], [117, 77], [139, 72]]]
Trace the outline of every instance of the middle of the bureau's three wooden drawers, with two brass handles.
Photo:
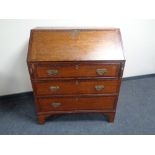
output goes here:
[[119, 80], [63, 80], [34, 82], [37, 95], [117, 93]]

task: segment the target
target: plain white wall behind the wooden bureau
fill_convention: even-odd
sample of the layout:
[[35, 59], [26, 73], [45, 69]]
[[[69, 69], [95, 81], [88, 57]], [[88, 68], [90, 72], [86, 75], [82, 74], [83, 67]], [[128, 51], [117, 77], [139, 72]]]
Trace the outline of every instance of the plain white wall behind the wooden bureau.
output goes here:
[[30, 29], [40, 26], [118, 27], [124, 77], [155, 73], [155, 20], [0, 20], [0, 96], [32, 90], [26, 54]]

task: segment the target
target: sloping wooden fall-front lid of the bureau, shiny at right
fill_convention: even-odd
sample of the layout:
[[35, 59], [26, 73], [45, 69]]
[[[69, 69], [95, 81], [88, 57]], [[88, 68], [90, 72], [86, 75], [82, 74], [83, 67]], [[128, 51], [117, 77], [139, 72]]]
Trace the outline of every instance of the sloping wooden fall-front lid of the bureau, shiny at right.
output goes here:
[[124, 60], [119, 29], [33, 29], [28, 61]]

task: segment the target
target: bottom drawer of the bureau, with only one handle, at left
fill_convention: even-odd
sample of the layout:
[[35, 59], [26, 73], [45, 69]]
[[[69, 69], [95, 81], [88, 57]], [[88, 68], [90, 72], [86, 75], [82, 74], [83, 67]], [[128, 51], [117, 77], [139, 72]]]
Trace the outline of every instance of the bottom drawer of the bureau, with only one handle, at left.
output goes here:
[[60, 97], [38, 99], [40, 112], [72, 110], [112, 110], [115, 96]]

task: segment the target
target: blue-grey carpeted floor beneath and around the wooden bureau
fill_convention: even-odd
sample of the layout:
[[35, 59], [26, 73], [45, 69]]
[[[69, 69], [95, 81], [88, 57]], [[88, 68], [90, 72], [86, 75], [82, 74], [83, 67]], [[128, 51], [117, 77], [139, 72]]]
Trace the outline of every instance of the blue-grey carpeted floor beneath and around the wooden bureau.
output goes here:
[[155, 77], [124, 80], [114, 123], [100, 113], [36, 120], [32, 95], [0, 99], [0, 134], [155, 134]]

